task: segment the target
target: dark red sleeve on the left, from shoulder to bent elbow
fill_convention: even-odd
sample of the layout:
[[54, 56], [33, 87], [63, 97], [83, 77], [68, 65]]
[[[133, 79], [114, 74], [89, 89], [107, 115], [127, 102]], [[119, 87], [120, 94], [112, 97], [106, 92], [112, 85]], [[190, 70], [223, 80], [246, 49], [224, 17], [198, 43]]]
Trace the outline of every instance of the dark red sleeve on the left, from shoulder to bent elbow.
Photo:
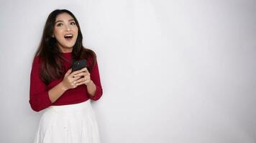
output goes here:
[[47, 86], [40, 78], [40, 59], [35, 57], [30, 73], [29, 104], [35, 112], [50, 107], [52, 102], [47, 91]]

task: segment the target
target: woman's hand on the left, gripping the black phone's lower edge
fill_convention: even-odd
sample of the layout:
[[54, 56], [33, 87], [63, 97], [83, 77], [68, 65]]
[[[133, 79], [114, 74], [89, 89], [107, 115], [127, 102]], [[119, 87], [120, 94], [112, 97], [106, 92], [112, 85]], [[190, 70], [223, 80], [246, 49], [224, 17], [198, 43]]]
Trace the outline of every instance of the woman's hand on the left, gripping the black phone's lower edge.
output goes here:
[[65, 73], [65, 76], [63, 78], [63, 86], [66, 90], [68, 89], [74, 89], [78, 87], [76, 85], [76, 80], [80, 79], [81, 77], [73, 77], [73, 73], [71, 74], [72, 70], [68, 69], [68, 71]]

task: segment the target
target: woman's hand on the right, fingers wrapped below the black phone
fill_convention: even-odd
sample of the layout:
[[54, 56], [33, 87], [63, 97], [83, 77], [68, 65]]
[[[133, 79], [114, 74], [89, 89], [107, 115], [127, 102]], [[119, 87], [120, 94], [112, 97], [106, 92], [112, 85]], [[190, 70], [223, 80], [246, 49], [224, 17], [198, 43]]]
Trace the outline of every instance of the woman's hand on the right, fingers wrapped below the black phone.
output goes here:
[[74, 77], [81, 77], [80, 79], [76, 80], [77, 86], [82, 84], [86, 84], [87, 86], [88, 84], [91, 84], [91, 76], [86, 67], [75, 72], [76, 74], [73, 75]]

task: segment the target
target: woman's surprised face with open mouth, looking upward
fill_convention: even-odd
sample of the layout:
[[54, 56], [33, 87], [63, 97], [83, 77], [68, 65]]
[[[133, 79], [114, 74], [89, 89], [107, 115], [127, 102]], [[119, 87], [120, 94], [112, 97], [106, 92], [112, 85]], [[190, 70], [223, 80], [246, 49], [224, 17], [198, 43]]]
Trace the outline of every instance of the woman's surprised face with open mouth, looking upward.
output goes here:
[[59, 14], [55, 19], [52, 36], [58, 41], [60, 51], [72, 51], [78, 37], [78, 26], [73, 17], [67, 13]]

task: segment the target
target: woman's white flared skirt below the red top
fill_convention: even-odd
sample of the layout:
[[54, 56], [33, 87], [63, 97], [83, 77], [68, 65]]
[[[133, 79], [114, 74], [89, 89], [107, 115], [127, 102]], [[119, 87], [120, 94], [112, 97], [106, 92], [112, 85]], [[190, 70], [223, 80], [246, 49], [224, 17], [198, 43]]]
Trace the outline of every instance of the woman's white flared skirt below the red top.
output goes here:
[[50, 106], [40, 119], [34, 143], [99, 143], [99, 128], [91, 100]]

